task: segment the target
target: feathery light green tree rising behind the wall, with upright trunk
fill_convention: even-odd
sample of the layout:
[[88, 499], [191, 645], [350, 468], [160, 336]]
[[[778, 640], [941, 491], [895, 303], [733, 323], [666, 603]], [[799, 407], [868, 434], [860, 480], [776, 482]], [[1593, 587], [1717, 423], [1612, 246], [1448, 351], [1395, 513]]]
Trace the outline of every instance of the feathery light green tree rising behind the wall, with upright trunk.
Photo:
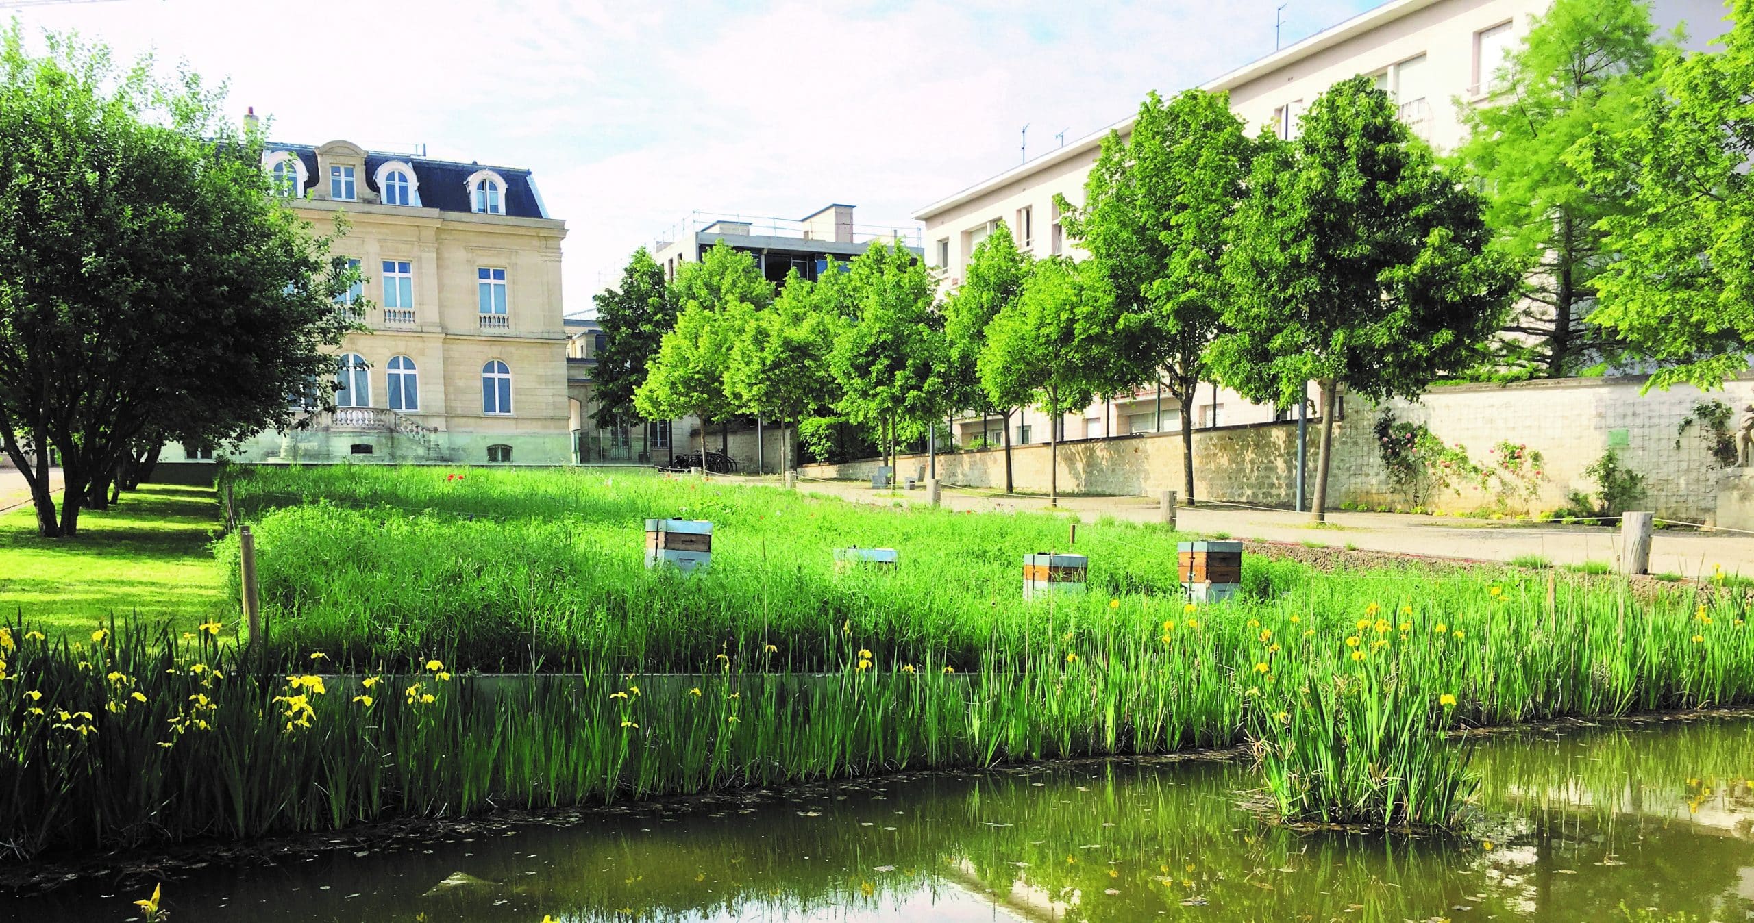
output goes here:
[[1486, 105], [1463, 112], [1470, 137], [1456, 161], [1479, 177], [1486, 221], [1522, 268], [1519, 303], [1486, 357], [1491, 373], [1561, 378], [1624, 349], [1589, 314], [1614, 252], [1601, 222], [1631, 205], [1619, 186], [1589, 187], [1566, 152], [1636, 124], [1654, 89], [1651, 33], [1638, 0], [1556, 0], [1505, 60]]

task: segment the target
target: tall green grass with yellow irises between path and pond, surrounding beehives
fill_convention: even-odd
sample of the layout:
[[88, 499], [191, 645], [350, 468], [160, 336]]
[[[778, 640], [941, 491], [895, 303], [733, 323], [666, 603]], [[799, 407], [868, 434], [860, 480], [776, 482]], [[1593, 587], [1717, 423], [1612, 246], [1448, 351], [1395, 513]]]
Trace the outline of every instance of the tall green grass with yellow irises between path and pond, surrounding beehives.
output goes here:
[[[1245, 739], [1289, 814], [1442, 823], [1475, 785], [1444, 727], [1754, 701], [1729, 594], [1254, 560], [1242, 599], [1189, 606], [1177, 536], [1096, 524], [1077, 545], [1091, 594], [1024, 604], [1021, 555], [1063, 550], [1061, 518], [453, 475], [237, 482], [277, 676], [205, 634], [56, 645], [14, 627], [0, 842], [251, 837]], [[667, 515], [716, 524], [709, 573], [644, 569], [642, 520]], [[830, 550], [854, 543], [900, 548], [902, 567], [837, 574]], [[572, 680], [474, 674], [509, 666]]]

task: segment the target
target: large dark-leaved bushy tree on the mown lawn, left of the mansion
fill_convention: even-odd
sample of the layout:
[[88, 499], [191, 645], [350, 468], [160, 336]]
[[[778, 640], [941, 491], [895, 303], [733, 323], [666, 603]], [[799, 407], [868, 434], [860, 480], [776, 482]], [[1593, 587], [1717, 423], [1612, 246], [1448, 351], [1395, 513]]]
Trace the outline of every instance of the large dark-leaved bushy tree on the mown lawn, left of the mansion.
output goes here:
[[0, 137], [0, 441], [42, 536], [77, 534], [142, 443], [284, 427], [333, 378], [358, 275], [270, 196], [223, 95], [54, 35], [33, 58], [14, 23]]

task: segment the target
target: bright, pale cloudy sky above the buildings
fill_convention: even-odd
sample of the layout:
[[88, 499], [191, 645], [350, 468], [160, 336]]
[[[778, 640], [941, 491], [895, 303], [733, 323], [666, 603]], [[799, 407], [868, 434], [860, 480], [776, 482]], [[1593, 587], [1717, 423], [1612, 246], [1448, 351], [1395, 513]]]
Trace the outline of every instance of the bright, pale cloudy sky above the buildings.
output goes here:
[[[1277, 7], [1286, 4], [1284, 11]], [[565, 312], [691, 212], [923, 205], [1380, 0], [102, 0], [14, 11], [230, 82], [281, 142], [524, 166]], [[0, 14], [7, 4], [0, 0]]]

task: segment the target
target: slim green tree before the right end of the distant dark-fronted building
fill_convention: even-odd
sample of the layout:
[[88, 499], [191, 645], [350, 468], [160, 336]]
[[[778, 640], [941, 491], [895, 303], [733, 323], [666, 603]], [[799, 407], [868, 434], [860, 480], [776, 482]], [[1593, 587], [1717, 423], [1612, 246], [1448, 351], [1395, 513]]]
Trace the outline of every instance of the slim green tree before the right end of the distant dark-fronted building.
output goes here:
[[886, 461], [951, 410], [944, 315], [933, 310], [935, 285], [926, 264], [900, 240], [881, 240], [847, 270], [852, 317], [830, 350], [840, 384], [835, 408], [879, 433]]

